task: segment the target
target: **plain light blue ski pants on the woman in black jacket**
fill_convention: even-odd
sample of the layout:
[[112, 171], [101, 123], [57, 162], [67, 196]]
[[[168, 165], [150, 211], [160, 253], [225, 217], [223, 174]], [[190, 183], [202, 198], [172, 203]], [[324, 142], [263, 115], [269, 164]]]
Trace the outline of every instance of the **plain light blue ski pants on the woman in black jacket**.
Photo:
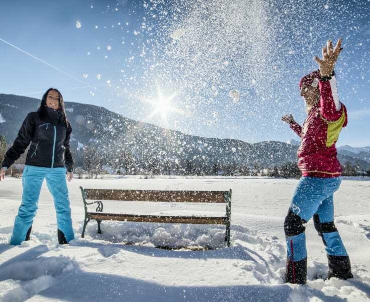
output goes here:
[[38, 198], [44, 179], [46, 179], [47, 187], [54, 198], [58, 229], [64, 233], [68, 242], [74, 239], [65, 172], [64, 167], [24, 167], [22, 203], [14, 220], [13, 234], [10, 239], [11, 245], [19, 245], [26, 239], [27, 231], [32, 226], [33, 218], [36, 216]]

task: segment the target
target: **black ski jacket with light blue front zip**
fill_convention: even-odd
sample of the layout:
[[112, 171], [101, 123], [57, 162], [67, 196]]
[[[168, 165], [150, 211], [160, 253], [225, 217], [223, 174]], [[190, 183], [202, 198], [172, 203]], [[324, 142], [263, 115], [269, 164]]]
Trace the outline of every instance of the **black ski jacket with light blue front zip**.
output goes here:
[[71, 132], [70, 123], [65, 127], [61, 117], [53, 122], [49, 115], [41, 118], [38, 112], [28, 113], [13, 146], [6, 152], [2, 167], [9, 168], [31, 143], [26, 165], [47, 168], [65, 166], [67, 171], [72, 172]]

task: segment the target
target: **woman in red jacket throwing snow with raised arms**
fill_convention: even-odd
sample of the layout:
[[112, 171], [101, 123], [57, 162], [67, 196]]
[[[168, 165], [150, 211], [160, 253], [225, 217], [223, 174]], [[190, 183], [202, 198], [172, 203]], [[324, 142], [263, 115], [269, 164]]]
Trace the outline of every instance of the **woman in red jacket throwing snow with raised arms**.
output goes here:
[[335, 143], [340, 130], [347, 125], [347, 110], [339, 102], [334, 74], [334, 65], [343, 49], [341, 44], [342, 40], [339, 40], [333, 49], [332, 41], [327, 41], [323, 58], [314, 58], [320, 69], [299, 81], [300, 95], [305, 99], [307, 111], [303, 127], [292, 115], [282, 118], [302, 140], [297, 153], [302, 177], [284, 222], [287, 242], [285, 277], [289, 283], [306, 283], [305, 228], [312, 217], [326, 247], [328, 278], [353, 278], [350, 259], [333, 221], [333, 193], [341, 183]]

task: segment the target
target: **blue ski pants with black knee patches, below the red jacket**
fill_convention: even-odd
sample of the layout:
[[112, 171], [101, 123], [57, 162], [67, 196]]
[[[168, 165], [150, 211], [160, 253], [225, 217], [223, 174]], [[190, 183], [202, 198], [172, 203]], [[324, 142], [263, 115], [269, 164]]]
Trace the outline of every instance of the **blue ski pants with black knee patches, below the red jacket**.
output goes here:
[[312, 217], [327, 254], [347, 256], [333, 222], [333, 193], [339, 189], [341, 181], [341, 177], [301, 177], [284, 224], [289, 259], [300, 261], [307, 257], [305, 228]]

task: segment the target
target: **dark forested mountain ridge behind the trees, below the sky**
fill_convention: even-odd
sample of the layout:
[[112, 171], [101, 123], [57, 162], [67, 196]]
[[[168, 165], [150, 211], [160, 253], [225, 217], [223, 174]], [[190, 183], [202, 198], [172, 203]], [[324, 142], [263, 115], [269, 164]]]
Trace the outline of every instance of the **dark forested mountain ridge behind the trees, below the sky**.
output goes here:
[[[0, 134], [12, 143], [24, 117], [36, 111], [39, 104], [35, 98], [0, 94]], [[133, 162], [134, 169], [162, 169], [165, 165], [171, 169], [191, 166], [206, 171], [215, 166], [273, 168], [297, 161], [296, 140], [248, 143], [206, 138], [135, 121], [97, 105], [65, 102], [65, 110], [73, 128], [71, 148], [80, 165], [86, 161], [82, 150], [87, 148], [94, 150], [91, 156], [97, 156], [97, 161], [114, 168], [122, 161]], [[370, 168], [370, 152], [339, 150], [339, 160], [342, 164], [359, 162], [366, 170]]]

